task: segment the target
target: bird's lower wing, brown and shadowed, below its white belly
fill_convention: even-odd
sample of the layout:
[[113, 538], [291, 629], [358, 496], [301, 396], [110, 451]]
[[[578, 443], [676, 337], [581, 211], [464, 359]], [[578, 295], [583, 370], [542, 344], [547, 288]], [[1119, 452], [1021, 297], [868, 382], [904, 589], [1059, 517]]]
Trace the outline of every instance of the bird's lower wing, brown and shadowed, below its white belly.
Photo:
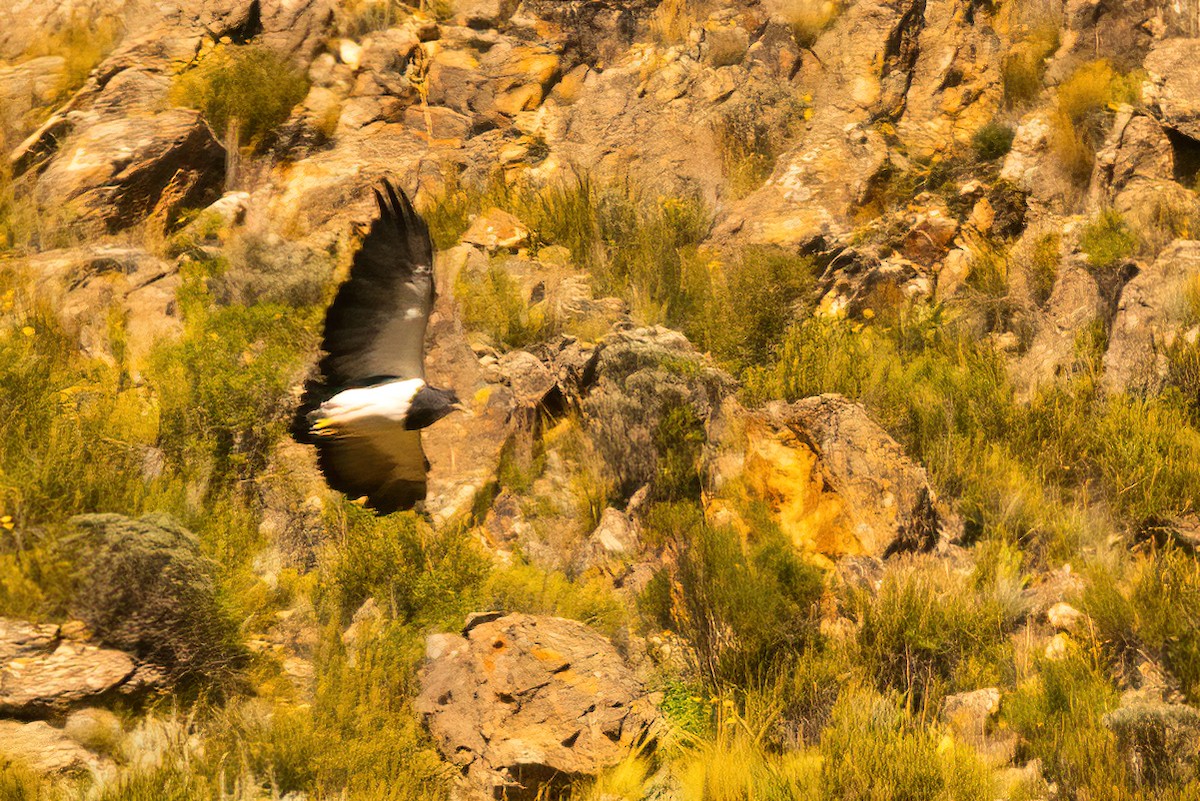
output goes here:
[[425, 500], [428, 462], [421, 432], [401, 426], [385, 430], [341, 427], [336, 435], [319, 438], [317, 460], [334, 489], [380, 514], [413, 508]]

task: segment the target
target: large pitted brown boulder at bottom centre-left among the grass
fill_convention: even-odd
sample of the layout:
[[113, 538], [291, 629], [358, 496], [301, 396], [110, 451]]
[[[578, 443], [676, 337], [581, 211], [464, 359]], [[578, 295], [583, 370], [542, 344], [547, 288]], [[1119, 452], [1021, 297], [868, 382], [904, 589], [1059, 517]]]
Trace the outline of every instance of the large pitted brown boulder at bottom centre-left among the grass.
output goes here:
[[476, 615], [426, 644], [418, 710], [467, 797], [533, 797], [618, 763], [654, 719], [612, 643], [560, 618]]

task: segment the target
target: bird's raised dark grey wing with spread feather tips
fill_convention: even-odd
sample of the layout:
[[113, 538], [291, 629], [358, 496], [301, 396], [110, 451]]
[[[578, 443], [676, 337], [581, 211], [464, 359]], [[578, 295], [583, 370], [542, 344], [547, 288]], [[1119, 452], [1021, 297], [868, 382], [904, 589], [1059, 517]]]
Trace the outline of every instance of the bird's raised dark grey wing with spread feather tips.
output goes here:
[[379, 216], [354, 254], [350, 277], [325, 314], [329, 386], [389, 375], [425, 378], [425, 325], [433, 308], [433, 242], [403, 189], [374, 189]]

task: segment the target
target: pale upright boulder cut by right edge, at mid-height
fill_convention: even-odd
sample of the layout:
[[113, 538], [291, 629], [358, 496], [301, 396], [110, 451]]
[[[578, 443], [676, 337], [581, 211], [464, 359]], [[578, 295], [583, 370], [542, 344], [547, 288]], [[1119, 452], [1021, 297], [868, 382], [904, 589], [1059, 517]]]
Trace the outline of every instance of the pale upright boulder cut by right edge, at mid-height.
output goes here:
[[[1126, 284], [1104, 355], [1109, 392], [1157, 391], [1166, 378], [1166, 353], [1182, 330], [1182, 300], [1200, 276], [1200, 242], [1177, 241]], [[1192, 335], [1194, 336], [1194, 335]]]

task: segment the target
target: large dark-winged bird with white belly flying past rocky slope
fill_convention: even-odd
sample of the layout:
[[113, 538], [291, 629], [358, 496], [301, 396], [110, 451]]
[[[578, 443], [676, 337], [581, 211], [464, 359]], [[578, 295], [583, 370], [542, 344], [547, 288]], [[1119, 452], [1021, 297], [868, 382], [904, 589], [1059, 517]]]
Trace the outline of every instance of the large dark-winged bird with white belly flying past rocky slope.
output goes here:
[[325, 313], [319, 375], [293, 434], [317, 447], [329, 486], [380, 514], [425, 500], [421, 429], [462, 406], [425, 383], [433, 242], [403, 189], [374, 189], [379, 213]]

